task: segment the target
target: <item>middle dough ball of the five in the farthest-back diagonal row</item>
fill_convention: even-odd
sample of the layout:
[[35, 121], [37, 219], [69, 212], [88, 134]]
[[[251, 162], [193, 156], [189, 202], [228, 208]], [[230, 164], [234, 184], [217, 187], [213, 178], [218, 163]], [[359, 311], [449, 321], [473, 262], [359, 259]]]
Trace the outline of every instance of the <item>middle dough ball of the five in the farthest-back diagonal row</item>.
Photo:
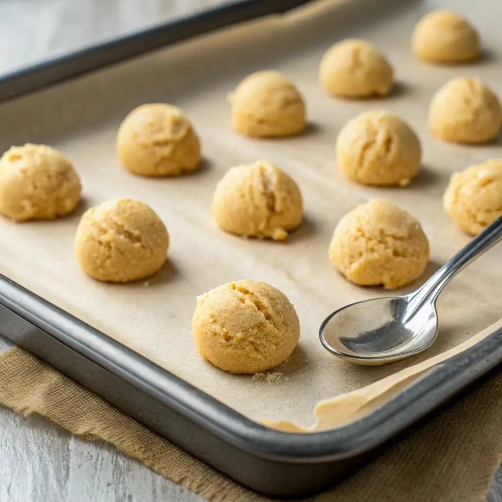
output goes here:
[[253, 73], [229, 96], [235, 131], [250, 137], [290, 136], [305, 129], [305, 103], [278, 71]]

